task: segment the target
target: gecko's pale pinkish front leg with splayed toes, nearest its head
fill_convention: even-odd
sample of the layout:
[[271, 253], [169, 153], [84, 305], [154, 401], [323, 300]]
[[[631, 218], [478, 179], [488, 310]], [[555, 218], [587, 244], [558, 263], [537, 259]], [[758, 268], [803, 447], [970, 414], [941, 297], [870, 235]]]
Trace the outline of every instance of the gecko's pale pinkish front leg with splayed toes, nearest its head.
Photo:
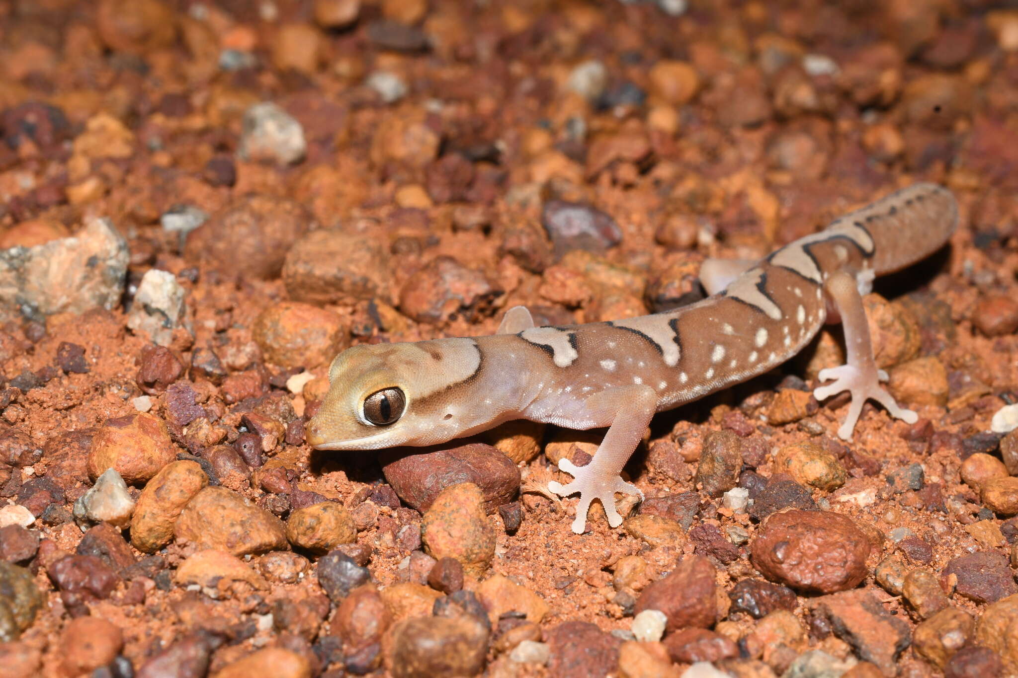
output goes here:
[[642, 439], [657, 410], [658, 396], [646, 385], [623, 386], [592, 395], [586, 407], [586, 414], [593, 421], [601, 425], [611, 424], [608, 433], [585, 467], [577, 467], [567, 458], [559, 460], [559, 469], [571, 475], [572, 482], [548, 484], [552, 492], [561, 496], [579, 493], [576, 519], [572, 523], [572, 531], [577, 535], [583, 534], [586, 528], [586, 513], [595, 499], [600, 499], [605, 507], [608, 525], [617, 528], [622, 523], [622, 516], [615, 508], [615, 493], [636, 494], [642, 498], [643, 493], [622, 480], [619, 474]]

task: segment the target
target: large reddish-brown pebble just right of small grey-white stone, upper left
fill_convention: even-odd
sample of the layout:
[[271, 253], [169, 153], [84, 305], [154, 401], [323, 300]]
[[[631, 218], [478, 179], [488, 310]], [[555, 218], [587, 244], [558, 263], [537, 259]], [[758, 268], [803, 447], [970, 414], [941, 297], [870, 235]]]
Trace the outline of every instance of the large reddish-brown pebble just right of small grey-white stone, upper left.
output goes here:
[[290, 245], [312, 230], [313, 223], [297, 202], [245, 195], [188, 233], [184, 254], [224, 272], [272, 279], [282, 269]]

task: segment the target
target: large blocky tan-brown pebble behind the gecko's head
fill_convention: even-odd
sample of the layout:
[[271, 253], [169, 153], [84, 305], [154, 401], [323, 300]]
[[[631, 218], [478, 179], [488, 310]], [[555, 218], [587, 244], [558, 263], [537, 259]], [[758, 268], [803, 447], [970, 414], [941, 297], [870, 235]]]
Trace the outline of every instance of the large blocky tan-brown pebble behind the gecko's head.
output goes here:
[[388, 249], [376, 238], [320, 229], [293, 243], [283, 283], [290, 299], [308, 304], [391, 302], [389, 260]]

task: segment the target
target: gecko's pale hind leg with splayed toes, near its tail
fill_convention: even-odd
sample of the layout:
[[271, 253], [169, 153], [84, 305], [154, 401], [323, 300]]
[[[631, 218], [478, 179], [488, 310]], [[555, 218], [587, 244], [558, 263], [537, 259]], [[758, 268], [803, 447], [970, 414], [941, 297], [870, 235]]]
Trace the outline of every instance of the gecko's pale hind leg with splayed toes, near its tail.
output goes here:
[[821, 381], [829, 379], [834, 381], [817, 386], [813, 390], [813, 395], [817, 400], [823, 400], [844, 390], [851, 392], [852, 403], [848, 409], [848, 416], [838, 429], [838, 437], [843, 440], [852, 437], [855, 424], [862, 414], [862, 406], [869, 398], [887, 408], [892, 417], [914, 424], [918, 420], [918, 415], [899, 407], [891, 393], [881, 386], [880, 382], [887, 381], [888, 374], [878, 369], [873, 360], [869, 325], [866, 322], [866, 313], [855, 276], [844, 270], [838, 271], [827, 280], [824, 290], [834, 301], [841, 315], [847, 362], [840, 367], [821, 370], [817, 375]]

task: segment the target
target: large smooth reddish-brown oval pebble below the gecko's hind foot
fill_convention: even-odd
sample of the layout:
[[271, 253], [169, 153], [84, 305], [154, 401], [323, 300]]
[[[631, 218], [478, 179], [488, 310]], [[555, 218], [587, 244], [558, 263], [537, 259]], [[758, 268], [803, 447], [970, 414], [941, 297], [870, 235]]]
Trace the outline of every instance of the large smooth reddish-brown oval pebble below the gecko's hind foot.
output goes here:
[[768, 579], [830, 594], [854, 589], [865, 578], [871, 545], [847, 516], [791, 509], [772, 514], [749, 548], [753, 565]]

